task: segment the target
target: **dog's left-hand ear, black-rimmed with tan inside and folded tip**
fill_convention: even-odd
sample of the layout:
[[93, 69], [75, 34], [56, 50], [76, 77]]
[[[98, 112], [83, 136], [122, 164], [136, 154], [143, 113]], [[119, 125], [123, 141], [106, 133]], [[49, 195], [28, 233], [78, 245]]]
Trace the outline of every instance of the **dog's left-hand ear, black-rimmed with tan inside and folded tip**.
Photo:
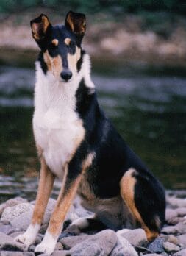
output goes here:
[[39, 45], [40, 42], [49, 35], [49, 32], [51, 32], [51, 23], [49, 18], [44, 14], [41, 14], [39, 17], [30, 21], [30, 26], [32, 29], [32, 36]]

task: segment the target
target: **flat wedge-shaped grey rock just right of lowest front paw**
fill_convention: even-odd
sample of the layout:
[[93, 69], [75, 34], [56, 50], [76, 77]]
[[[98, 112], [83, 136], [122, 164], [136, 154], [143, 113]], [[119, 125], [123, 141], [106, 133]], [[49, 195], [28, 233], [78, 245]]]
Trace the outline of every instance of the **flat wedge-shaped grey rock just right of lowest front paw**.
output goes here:
[[93, 237], [93, 235], [78, 235], [78, 236], [68, 236], [67, 238], [60, 239], [60, 243], [66, 248], [71, 249], [76, 244], [82, 243], [82, 241]]

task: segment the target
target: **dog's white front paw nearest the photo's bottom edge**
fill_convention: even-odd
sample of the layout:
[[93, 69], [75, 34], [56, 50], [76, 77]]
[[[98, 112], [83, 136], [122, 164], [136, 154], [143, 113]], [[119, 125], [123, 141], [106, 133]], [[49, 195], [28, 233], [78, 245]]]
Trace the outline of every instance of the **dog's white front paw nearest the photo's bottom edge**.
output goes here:
[[52, 252], [54, 252], [56, 243], [57, 237], [54, 238], [50, 232], [46, 231], [43, 241], [35, 247], [35, 252], [43, 252], [50, 255]]

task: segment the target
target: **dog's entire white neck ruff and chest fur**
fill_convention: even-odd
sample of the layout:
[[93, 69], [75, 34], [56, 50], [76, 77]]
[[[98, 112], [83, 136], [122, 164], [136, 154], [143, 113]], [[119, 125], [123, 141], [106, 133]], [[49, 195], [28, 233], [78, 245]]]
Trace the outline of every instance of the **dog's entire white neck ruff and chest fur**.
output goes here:
[[[82, 65], [88, 70], [89, 58], [85, 55], [84, 59]], [[43, 149], [46, 164], [60, 179], [65, 163], [71, 159], [71, 154], [85, 135], [82, 121], [75, 111], [75, 94], [83, 77], [88, 82], [87, 86], [93, 88], [90, 71], [80, 71], [73, 75], [71, 82], [63, 83], [50, 71], [43, 74], [40, 64], [36, 63], [35, 141]]]

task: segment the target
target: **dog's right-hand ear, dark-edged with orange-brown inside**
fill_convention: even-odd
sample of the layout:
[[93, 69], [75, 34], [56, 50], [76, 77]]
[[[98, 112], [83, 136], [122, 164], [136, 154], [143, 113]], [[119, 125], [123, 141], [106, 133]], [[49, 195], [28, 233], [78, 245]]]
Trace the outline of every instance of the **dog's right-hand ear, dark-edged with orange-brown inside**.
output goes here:
[[70, 29], [71, 32], [80, 38], [85, 35], [86, 29], [86, 18], [83, 13], [74, 13], [72, 11], [68, 12], [65, 19], [65, 26]]

